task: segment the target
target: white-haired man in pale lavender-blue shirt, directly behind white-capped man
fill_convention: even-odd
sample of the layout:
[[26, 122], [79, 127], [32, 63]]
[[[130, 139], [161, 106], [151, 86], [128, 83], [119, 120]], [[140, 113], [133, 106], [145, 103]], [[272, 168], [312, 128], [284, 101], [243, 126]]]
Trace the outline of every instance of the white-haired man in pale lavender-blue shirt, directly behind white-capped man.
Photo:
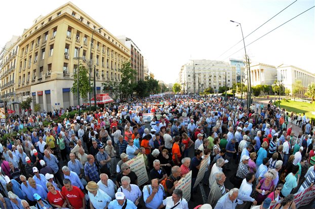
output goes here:
[[130, 178], [128, 176], [122, 177], [122, 186], [117, 189], [117, 192], [123, 192], [127, 199], [131, 200], [135, 205], [139, 204], [142, 196], [141, 190], [135, 184], [130, 184]]

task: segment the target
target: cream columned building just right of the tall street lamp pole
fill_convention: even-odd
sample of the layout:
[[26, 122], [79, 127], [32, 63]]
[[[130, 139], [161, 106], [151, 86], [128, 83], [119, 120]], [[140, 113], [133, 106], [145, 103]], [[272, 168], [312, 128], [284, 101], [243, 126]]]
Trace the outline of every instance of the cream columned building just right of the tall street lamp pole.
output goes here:
[[251, 85], [272, 85], [275, 76], [277, 76], [277, 69], [275, 66], [263, 63], [251, 65]]

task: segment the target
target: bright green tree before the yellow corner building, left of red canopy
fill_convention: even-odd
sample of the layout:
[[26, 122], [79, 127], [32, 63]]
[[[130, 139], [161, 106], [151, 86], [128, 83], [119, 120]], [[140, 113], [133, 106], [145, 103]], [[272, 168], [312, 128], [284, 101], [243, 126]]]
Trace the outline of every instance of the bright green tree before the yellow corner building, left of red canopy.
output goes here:
[[[78, 79], [79, 79], [79, 94], [80, 97], [84, 100], [87, 101], [88, 100], [88, 93], [91, 92], [93, 90], [91, 83], [89, 82], [89, 70], [83, 66], [82, 64], [80, 64], [77, 67], [78, 70]], [[73, 86], [71, 88], [71, 92], [73, 93], [73, 95], [77, 95], [77, 90], [76, 90], [76, 79], [77, 78], [77, 73], [73, 74]]]

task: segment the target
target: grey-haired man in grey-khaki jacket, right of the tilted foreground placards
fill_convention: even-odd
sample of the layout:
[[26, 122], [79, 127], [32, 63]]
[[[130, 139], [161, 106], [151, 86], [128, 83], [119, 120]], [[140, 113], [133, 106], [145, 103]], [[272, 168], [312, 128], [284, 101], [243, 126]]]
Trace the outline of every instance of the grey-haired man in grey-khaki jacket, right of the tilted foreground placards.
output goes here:
[[223, 173], [217, 173], [215, 175], [215, 182], [211, 185], [207, 203], [213, 207], [217, 204], [218, 200], [229, 190], [225, 189], [224, 182], [226, 176]]

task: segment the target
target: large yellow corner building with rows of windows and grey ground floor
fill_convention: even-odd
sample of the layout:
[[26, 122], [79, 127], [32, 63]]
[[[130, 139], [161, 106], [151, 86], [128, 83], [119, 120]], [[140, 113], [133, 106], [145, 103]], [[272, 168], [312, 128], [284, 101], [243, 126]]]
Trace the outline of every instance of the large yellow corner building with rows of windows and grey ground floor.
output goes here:
[[34, 20], [19, 44], [15, 73], [17, 99], [22, 101], [31, 96], [32, 108], [38, 103], [41, 110], [47, 111], [76, 106], [76, 94], [70, 91], [73, 74], [78, 64], [88, 67], [90, 56], [90, 64], [96, 68], [91, 79], [96, 76], [97, 93], [102, 91], [102, 82], [120, 82], [119, 69], [130, 59], [130, 50], [106, 29], [97, 30], [101, 27], [70, 2]]

